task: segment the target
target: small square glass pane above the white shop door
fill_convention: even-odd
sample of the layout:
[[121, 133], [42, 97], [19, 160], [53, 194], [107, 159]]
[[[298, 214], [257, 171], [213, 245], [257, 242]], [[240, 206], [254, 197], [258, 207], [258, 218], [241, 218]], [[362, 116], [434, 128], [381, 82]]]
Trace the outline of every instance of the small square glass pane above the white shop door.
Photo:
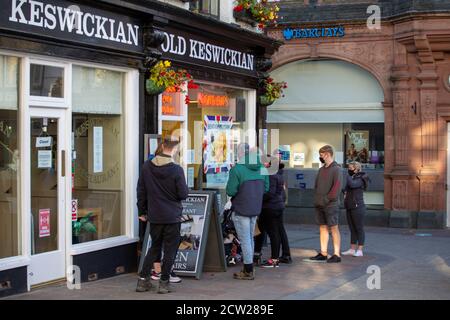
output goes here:
[[31, 64], [30, 95], [63, 98], [64, 68]]

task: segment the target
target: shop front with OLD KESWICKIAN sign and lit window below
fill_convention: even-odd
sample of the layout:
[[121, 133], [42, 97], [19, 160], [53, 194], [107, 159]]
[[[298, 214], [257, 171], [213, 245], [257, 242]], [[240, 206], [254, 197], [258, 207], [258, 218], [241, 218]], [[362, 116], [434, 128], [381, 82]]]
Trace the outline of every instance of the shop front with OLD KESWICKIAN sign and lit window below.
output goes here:
[[[184, 68], [193, 83], [184, 92], [168, 88], [158, 99], [160, 137], [179, 138], [179, 162], [193, 190], [218, 189], [223, 199], [228, 173], [242, 142], [257, 144], [257, 90], [279, 42], [262, 35], [218, 33], [211, 23], [191, 28], [169, 21], [162, 59]], [[152, 138], [150, 138], [152, 139]], [[155, 150], [155, 143], [153, 145]], [[223, 203], [224, 204], [224, 203]]]

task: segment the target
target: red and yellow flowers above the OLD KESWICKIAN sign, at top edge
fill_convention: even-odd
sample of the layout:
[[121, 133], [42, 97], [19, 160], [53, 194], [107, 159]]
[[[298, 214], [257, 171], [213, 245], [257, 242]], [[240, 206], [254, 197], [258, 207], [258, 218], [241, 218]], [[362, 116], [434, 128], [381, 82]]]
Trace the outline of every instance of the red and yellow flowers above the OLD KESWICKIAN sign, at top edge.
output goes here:
[[234, 17], [250, 24], [255, 22], [260, 29], [268, 25], [276, 25], [280, 8], [268, 0], [236, 0]]

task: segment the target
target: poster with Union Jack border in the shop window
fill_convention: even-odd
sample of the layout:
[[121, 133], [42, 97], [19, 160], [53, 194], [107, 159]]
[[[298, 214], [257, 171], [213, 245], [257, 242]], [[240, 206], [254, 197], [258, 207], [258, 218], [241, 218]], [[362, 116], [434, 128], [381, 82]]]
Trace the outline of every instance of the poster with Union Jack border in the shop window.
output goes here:
[[203, 160], [204, 173], [228, 172], [232, 164], [233, 120], [229, 116], [204, 118]]

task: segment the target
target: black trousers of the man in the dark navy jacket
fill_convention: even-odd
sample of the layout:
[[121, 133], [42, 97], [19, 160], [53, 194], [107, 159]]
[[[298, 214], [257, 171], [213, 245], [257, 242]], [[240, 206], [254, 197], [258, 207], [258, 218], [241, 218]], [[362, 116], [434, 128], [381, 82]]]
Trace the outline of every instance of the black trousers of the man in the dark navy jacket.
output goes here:
[[173, 263], [180, 245], [180, 226], [180, 223], [150, 224], [152, 247], [145, 256], [141, 277], [150, 277], [153, 263], [158, 262], [161, 259], [161, 250], [164, 250], [161, 267], [161, 280], [169, 280], [170, 272], [172, 271]]

